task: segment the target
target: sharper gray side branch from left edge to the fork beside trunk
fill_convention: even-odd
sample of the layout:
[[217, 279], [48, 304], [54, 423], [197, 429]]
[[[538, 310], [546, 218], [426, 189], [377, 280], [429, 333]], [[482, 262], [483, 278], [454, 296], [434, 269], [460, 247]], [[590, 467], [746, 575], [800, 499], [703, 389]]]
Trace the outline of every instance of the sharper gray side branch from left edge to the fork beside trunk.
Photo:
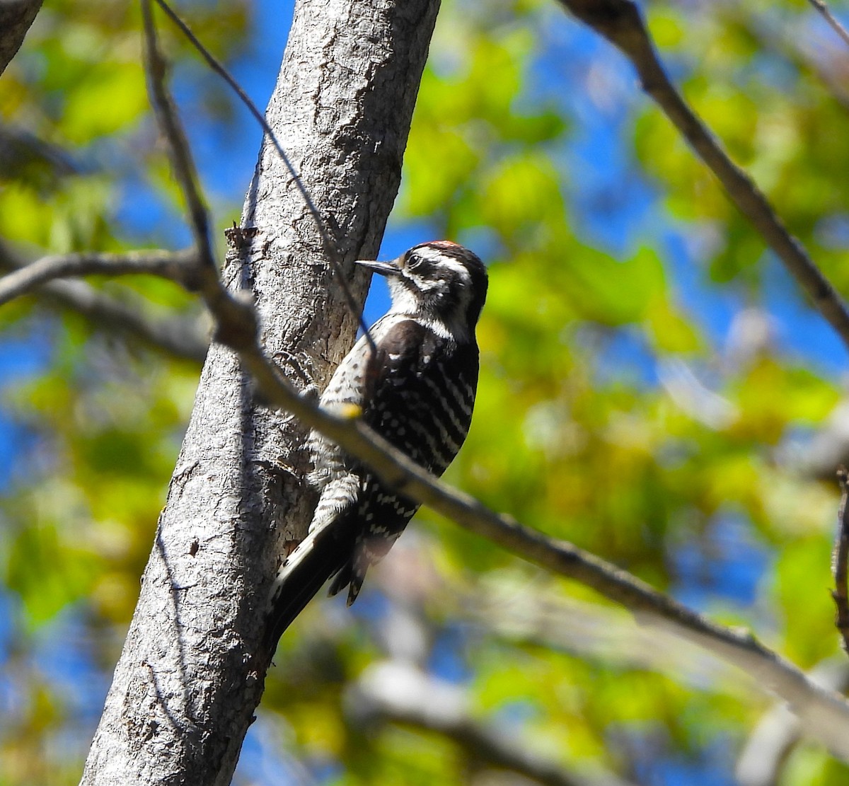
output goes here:
[[189, 263], [196, 257], [187, 251], [124, 251], [119, 254], [86, 252], [43, 256], [0, 278], [0, 306], [52, 281], [71, 276], [121, 276], [147, 273], [188, 284]]

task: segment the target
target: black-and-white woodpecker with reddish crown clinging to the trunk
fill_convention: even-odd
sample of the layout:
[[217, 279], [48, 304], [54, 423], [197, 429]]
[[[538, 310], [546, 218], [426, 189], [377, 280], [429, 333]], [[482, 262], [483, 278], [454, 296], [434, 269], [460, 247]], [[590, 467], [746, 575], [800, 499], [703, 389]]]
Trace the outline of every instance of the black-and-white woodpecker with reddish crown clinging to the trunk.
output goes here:
[[[389, 312], [336, 369], [323, 408], [358, 407], [363, 421], [431, 473], [457, 455], [475, 406], [475, 325], [486, 267], [448, 240], [413, 246], [390, 262], [357, 261], [388, 280]], [[385, 557], [419, 505], [317, 431], [307, 441], [318, 504], [303, 542], [280, 566], [269, 595], [270, 646], [334, 577], [329, 593], [357, 598], [368, 568]]]

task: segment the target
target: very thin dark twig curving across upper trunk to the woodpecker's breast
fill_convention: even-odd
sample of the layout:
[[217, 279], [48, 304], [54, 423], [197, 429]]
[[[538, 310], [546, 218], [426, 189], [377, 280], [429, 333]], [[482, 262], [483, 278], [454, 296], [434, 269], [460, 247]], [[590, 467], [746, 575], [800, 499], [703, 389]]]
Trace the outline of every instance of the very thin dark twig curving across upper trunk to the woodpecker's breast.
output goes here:
[[245, 90], [242, 89], [239, 82], [236, 81], [233, 76], [229, 73], [229, 71], [220, 63], [215, 56], [209, 51], [209, 49], [205, 48], [205, 46], [200, 42], [200, 39], [194, 35], [194, 32], [188, 27], [188, 25], [177, 16], [177, 13], [165, 2], [165, 0], [155, 0], [155, 3], [159, 5], [160, 8], [166, 13], [168, 18], [179, 28], [179, 30], [183, 33], [188, 41], [191, 42], [192, 46], [198, 50], [201, 57], [205, 59], [207, 65], [216, 72], [218, 76], [221, 76], [224, 81], [226, 81], [229, 87], [239, 96], [239, 100], [245, 104], [245, 106], [250, 111], [250, 114], [254, 116], [256, 122], [258, 122], [262, 128], [262, 131], [265, 132], [267, 138], [271, 141], [274, 146], [274, 149], [277, 151], [280, 160], [283, 161], [284, 166], [289, 171], [292, 179], [295, 181], [295, 187], [303, 197], [304, 202], [306, 204], [307, 209], [310, 211], [310, 215], [312, 216], [313, 222], [315, 222], [316, 228], [318, 229], [318, 235], [321, 238], [322, 245], [324, 248], [324, 253], [327, 255], [331, 267], [333, 267], [334, 272], [336, 273], [336, 278], [339, 281], [340, 287], [342, 289], [342, 294], [345, 296], [345, 300], [348, 308], [351, 310], [351, 313], [357, 317], [357, 321], [359, 322], [360, 328], [363, 330], [363, 335], [366, 337], [368, 341], [368, 346], [371, 349], [372, 353], [375, 354], [377, 352], [377, 347], [374, 345], [374, 339], [372, 338], [371, 331], [368, 329], [368, 324], [363, 319], [362, 309], [358, 306], [357, 300], [354, 299], [353, 293], [351, 293], [351, 288], [348, 286], [348, 281], [345, 277], [345, 273], [342, 272], [342, 257], [337, 250], [337, 247], [332, 239], [330, 239], [330, 234], [328, 232], [327, 227], [324, 225], [323, 218], [321, 213], [318, 212], [318, 207], [316, 207], [315, 202], [312, 200], [312, 196], [310, 196], [309, 191], [307, 191], [306, 186], [304, 185], [303, 180], [301, 179], [301, 175], [295, 170], [295, 165], [292, 164], [289, 156], [286, 154], [286, 151], [283, 148], [283, 145], [280, 143], [277, 138], [277, 134], [273, 132], [271, 126], [268, 125], [268, 122], [265, 119], [265, 115], [262, 115], [261, 111], [256, 108], [256, 104], [250, 100], [250, 97]]

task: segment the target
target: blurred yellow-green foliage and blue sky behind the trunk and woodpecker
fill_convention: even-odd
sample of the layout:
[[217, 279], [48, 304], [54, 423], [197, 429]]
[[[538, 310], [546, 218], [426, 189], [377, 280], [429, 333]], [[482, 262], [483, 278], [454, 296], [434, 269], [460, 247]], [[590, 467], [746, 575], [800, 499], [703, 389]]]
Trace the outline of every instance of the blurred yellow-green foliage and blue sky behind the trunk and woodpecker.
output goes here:
[[[181, 10], [262, 104], [291, 8]], [[689, 101], [849, 293], [849, 51], [803, 0], [645, 10]], [[166, 38], [223, 228], [260, 132]], [[188, 244], [139, 51], [132, 4], [42, 8], [0, 79], [0, 264]], [[556, 4], [443, 3], [384, 256], [436, 237], [491, 273], [475, 424], [448, 479], [805, 669], [839, 659], [846, 351], [627, 63]], [[87, 284], [202, 320], [170, 284]], [[385, 305], [376, 288], [368, 316]], [[3, 306], [0, 336], [0, 784], [76, 783], [199, 364], [47, 297]], [[318, 599], [284, 636], [237, 783], [527, 782], [475, 733], [588, 783], [735, 783], [772, 705], [427, 511], [361, 598]], [[809, 741], [777, 764], [788, 786], [849, 777]]]

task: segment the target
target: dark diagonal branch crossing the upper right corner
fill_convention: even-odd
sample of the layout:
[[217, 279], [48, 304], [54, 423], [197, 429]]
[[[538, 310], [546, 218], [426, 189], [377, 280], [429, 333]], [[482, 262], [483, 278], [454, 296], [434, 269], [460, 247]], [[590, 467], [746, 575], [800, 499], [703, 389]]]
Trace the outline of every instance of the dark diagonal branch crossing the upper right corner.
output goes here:
[[716, 175], [728, 197], [812, 298], [849, 349], [849, 310], [829, 280], [792, 237], [766, 197], [722, 149], [666, 75], [639, 8], [633, 0], [559, 0], [577, 19], [608, 39], [631, 60], [643, 89]]

